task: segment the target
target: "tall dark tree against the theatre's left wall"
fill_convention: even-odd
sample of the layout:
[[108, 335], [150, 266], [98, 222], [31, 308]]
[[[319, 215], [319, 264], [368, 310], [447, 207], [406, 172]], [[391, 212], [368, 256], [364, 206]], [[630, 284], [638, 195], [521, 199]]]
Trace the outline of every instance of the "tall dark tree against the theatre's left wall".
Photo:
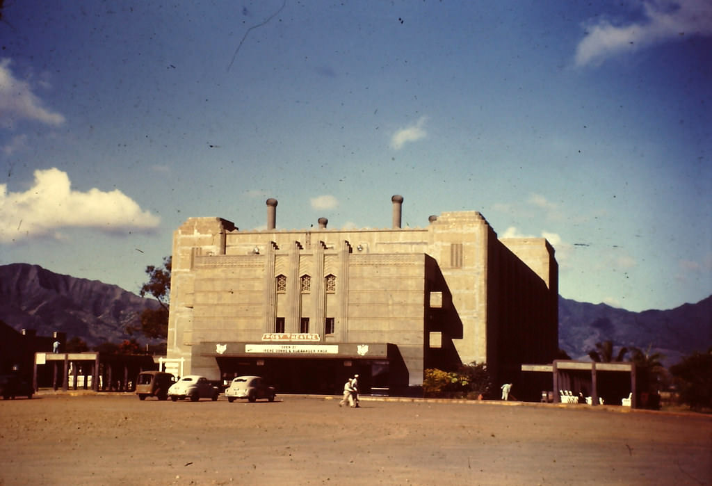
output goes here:
[[146, 274], [149, 276], [139, 292], [141, 297], [150, 295], [158, 301], [160, 307], [157, 309], [145, 309], [141, 312], [141, 327], [129, 326], [126, 331], [132, 335], [134, 332], [141, 332], [150, 339], [166, 339], [168, 337], [168, 306], [171, 298], [171, 266], [173, 258], [167, 256], [163, 258], [163, 266], [156, 267], [148, 265]]

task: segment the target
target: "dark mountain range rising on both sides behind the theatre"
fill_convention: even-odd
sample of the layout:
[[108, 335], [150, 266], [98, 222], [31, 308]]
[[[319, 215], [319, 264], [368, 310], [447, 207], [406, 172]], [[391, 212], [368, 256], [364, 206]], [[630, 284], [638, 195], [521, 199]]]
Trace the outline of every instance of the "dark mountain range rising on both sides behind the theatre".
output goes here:
[[[60, 275], [38, 265], [0, 265], [0, 320], [16, 330], [36, 329], [80, 337], [90, 347], [130, 336], [127, 325], [158, 302], [116, 285]], [[573, 359], [589, 360], [597, 342], [659, 352], [664, 364], [712, 347], [712, 295], [671, 310], [631, 312], [605, 304], [559, 297], [559, 347]]]

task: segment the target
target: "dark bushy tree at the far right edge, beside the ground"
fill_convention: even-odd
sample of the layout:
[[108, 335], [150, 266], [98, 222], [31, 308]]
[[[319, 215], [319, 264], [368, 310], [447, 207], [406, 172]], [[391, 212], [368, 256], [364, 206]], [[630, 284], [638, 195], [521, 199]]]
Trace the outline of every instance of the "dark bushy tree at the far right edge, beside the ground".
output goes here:
[[693, 410], [712, 408], [712, 348], [706, 353], [693, 352], [670, 366], [680, 400]]

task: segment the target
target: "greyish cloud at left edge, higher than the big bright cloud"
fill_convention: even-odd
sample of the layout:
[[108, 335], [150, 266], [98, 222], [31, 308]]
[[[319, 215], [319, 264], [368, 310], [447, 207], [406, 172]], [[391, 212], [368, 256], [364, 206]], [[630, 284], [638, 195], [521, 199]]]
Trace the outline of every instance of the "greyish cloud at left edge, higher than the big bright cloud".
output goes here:
[[33, 93], [29, 83], [15, 78], [11, 60], [0, 59], [0, 113], [2, 125], [12, 127], [19, 120], [31, 120], [47, 125], [61, 125], [64, 117], [43, 107], [42, 100]]

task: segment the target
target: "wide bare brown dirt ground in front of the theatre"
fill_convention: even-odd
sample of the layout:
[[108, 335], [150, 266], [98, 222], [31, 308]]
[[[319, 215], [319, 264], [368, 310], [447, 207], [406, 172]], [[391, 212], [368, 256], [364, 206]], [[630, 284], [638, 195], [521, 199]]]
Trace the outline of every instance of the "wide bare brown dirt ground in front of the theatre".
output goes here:
[[712, 482], [712, 418], [505, 403], [129, 394], [0, 401], [2, 485]]

